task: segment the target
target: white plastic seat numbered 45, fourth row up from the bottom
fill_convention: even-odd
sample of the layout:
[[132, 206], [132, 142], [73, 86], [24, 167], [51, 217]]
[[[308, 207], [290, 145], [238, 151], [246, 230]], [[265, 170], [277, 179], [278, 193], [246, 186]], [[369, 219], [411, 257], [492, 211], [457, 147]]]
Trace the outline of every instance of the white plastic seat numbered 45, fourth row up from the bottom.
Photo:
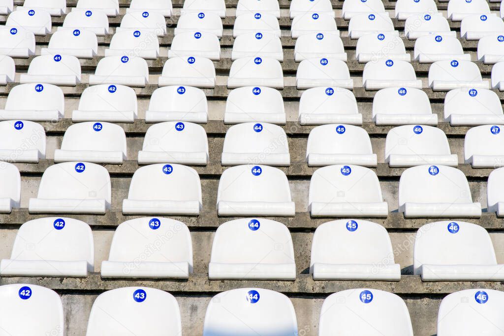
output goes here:
[[329, 124], [313, 128], [306, 144], [309, 166], [358, 164], [376, 166], [376, 154], [366, 130], [346, 124]]

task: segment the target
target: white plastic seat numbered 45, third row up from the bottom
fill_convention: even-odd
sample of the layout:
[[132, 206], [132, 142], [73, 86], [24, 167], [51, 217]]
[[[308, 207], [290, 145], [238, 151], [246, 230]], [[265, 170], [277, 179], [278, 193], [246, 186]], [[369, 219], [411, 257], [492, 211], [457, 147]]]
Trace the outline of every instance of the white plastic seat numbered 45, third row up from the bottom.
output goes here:
[[376, 174], [359, 165], [335, 164], [311, 176], [308, 211], [312, 217], [387, 217]]

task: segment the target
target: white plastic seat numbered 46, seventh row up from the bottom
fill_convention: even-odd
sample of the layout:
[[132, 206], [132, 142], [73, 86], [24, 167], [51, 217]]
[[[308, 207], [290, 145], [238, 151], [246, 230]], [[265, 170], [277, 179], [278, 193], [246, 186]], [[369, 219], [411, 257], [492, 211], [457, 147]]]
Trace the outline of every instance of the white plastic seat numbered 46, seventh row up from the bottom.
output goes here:
[[[382, 0], [377, 1], [382, 2]], [[411, 60], [410, 54], [406, 52], [403, 40], [399, 36], [388, 32], [359, 37], [355, 49], [355, 58], [359, 63], [376, 61], [380, 58], [392, 58], [406, 62]]]

